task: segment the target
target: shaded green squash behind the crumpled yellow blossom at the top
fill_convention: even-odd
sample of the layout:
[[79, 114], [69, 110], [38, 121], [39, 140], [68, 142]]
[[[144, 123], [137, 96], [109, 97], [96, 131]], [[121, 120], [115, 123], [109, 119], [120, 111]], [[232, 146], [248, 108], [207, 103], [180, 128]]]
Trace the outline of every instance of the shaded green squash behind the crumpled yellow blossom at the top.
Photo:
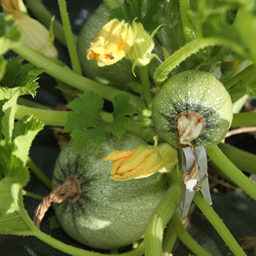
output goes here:
[[131, 72], [132, 64], [128, 59], [123, 58], [113, 65], [98, 67], [94, 60], [87, 58], [90, 43], [109, 21], [109, 15], [109, 9], [104, 3], [91, 15], [78, 37], [78, 56], [85, 76], [104, 85], [128, 91], [128, 82], [136, 80]]

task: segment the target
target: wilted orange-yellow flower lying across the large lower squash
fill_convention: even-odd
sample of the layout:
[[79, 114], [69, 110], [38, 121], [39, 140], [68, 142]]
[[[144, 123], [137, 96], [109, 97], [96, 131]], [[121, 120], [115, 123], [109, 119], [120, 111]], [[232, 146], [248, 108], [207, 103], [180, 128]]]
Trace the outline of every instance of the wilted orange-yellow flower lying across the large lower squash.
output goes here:
[[110, 177], [122, 181], [145, 178], [157, 171], [168, 172], [178, 163], [177, 151], [167, 143], [113, 151], [103, 161], [108, 160], [113, 161]]

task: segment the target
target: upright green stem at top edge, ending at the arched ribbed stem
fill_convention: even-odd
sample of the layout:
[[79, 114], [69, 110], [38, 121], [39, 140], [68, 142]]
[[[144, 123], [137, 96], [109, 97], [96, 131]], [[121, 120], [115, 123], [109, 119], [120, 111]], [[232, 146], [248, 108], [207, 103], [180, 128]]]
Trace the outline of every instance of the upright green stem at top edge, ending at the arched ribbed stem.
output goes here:
[[195, 39], [194, 27], [188, 16], [188, 12], [190, 11], [190, 1], [179, 0], [179, 8], [185, 42], [189, 43]]

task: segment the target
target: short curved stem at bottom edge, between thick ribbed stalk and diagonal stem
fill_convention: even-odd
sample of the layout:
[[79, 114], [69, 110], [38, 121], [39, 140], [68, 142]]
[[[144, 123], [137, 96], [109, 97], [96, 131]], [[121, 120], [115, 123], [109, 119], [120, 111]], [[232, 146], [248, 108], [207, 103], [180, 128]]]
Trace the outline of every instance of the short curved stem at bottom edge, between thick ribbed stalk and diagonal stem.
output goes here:
[[175, 230], [176, 234], [178, 235], [178, 238], [183, 242], [184, 245], [186, 245], [193, 253], [195, 253], [198, 256], [210, 256], [210, 253], [205, 251], [201, 245], [190, 236], [190, 234], [186, 231], [184, 228], [181, 217], [179, 213], [176, 211], [172, 218], [171, 218], [171, 224], [173, 226], [173, 229]]

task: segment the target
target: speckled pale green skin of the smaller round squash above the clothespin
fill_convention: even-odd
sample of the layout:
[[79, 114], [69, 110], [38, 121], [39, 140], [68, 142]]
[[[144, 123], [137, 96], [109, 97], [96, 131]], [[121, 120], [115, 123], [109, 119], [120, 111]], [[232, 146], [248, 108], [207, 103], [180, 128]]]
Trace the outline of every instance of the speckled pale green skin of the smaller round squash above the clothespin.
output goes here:
[[165, 82], [153, 100], [152, 118], [158, 133], [178, 148], [174, 119], [185, 110], [201, 114], [205, 128], [194, 146], [209, 149], [225, 137], [233, 119], [228, 91], [212, 74], [191, 70], [179, 73]]

